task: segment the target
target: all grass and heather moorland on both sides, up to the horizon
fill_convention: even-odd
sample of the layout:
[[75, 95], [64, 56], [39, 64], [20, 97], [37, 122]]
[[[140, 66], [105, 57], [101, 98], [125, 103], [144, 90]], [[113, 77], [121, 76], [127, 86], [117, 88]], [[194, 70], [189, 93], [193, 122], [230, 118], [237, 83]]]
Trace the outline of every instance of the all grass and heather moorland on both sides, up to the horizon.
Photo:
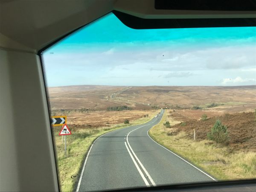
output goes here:
[[[64, 157], [64, 144], [62, 137], [58, 136], [60, 128], [55, 128], [63, 191], [74, 190], [76, 180], [70, 177], [79, 173], [84, 155], [93, 140], [108, 131], [128, 126], [129, 124], [123, 124], [125, 119], [131, 124], [147, 122], [159, 108], [172, 110], [168, 110], [160, 124], [150, 131], [158, 143], [182, 155], [218, 179], [256, 177], [255, 85], [79, 85], [50, 87], [49, 95], [53, 115], [67, 115], [67, 123], [73, 133], [67, 136], [67, 157]], [[213, 102], [219, 106], [207, 108]], [[127, 106], [132, 110], [107, 111], [108, 107], [116, 106]], [[191, 110], [193, 106], [202, 109]], [[200, 120], [203, 114], [207, 114], [209, 119]], [[228, 127], [230, 143], [227, 146], [215, 147], [212, 141], [207, 140], [207, 132], [216, 119], [221, 119]], [[163, 125], [167, 120], [171, 128]], [[194, 128], [196, 141], [192, 139]]]

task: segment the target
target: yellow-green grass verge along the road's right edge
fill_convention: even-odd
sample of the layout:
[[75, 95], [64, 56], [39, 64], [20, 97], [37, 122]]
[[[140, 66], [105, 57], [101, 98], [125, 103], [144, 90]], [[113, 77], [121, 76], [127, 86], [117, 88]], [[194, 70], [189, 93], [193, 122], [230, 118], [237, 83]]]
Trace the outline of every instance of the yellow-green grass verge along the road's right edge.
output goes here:
[[150, 137], [160, 145], [189, 160], [198, 168], [208, 172], [218, 180], [250, 179], [256, 177], [256, 153], [230, 151], [228, 146], [215, 147], [209, 140], [194, 141], [187, 137], [186, 132], [172, 134], [172, 128], [166, 128], [163, 123], [171, 125], [179, 123], [163, 115], [159, 124], [148, 132]]

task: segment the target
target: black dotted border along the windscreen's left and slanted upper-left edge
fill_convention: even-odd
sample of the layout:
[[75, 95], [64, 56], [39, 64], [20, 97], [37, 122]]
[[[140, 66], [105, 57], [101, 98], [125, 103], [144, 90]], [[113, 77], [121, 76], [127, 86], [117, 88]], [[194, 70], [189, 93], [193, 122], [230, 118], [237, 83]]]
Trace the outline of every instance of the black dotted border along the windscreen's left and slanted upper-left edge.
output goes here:
[[[57, 41], [53, 42], [52, 44], [49, 44], [47, 47], [44, 47], [43, 49], [38, 51], [38, 55], [40, 57], [41, 61], [41, 67], [42, 67], [42, 72], [43, 72], [43, 77], [44, 77], [44, 87], [45, 87], [45, 93], [47, 97], [47, 105], [48, 105], [48, 113], [49, 113], [49, 124], [51, 123], [51, 116], [52, 116], [52, 110], [51, 110], [51, 105], [50, 105], [50, 97], [49, 97], [49, 90], [48, 90], [48, 85], [47, 85], [47, 71], [44, 63], [44, 54], [48, 52], [50, 49], [54, 48], [56, 45], [61, 44], [64, 40], [67, 38], [70, 38], [73, 35], [76, 35], [76, 33], [80, 32], [81, 30], [84, 30], [85, 28], [93, 25], [94, 23], [98, 22], [99, 20], [102, 20], [110, 15], [112, 15], [112, 12], [107, 13], [106, 15], [103, 15], [102, 17], [99, 17], [96, 20], [93, 20], [92, 22], [79, 27], [78, 29], [68, 33], [67, 35], [64, 35], [63, 37], [59, 38]], [[52, 143], [53, 143], [53, 150], [54, 150], [54, 156], [55, 156], [55, 165], [56, 165], [56, 172], [57, 172], [57, 177], [58, 177], [58, 188], [59, 191], [62, 191], [61, 185], [60, 185], [60, 177], [59, 177], [59, 169], [58, 169], [58, 157], [57, 157], [57, 149], [56, 149], [56, 144], [55, 144], [55, 135], [54, 135], [54, 129], [53, 126], [51, 125], [51, 133], [52, 133]], [[76, 186], [76, 185], [75, 185]], [[76, 190], [76, 189], [75, 189]]]

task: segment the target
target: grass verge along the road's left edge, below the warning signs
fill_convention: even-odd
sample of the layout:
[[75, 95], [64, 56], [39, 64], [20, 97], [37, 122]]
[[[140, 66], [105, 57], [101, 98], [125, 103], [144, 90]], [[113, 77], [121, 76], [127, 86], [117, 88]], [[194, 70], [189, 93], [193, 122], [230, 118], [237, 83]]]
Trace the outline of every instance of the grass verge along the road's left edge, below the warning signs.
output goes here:
[[[79, 174], [79, 170], [83, 165], [84, 155], [87, 153], [90, 145], [96, 140], [97, 137], [105, 134], [107, 132], [125, 128], [131, 125], [139, 125], [148, 122], [150, 119], [154, 118], [157, 111], [152, 111], [148, 113], [148, 117], [143, 117], [134, 121], [130, 124], [118, 124], [112, 125], [111, 127], [102, 128], [72, 128], [70, 131], [72, 135], [67, 135], [67, 157], [65, 157], [64, 142], [62, 137], [58, 136], [61, 127], [55, 127], [55, 145], [57, 150], [58, 158], [58, 169], [60, 177], [61, 190], [64, 192], [74, 191], [76, 179], [72, 179], [71, 176]], [[80, 175], [79, 175], [80, 177]], [[79, 179], [79, 178], [78, 178]]]

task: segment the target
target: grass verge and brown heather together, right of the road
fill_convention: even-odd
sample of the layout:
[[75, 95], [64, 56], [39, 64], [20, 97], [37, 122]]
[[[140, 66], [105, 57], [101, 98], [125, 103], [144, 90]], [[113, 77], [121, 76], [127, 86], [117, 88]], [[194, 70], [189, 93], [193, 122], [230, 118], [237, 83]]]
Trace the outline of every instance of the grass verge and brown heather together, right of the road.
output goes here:
[[[171, 112], [171, 113], [170, 113]], [[166, 111], [161, 122], [150, 131], [150, 136], [161, 145], [180, 154], [218, 180], [256, 177], [256, 122], [255, 114], [235, 113], [212, 117], [206, 121], [180, 122]], [[227, 125], [230, 137], [228, 145], [216, 147], [206, 135], [216, 119]], [[169, 121], [171, 128], [163, 123]], [[182, 126], [183, 125], [183, 126]], [[195, 128], [196, 140], [193, 140]]]

